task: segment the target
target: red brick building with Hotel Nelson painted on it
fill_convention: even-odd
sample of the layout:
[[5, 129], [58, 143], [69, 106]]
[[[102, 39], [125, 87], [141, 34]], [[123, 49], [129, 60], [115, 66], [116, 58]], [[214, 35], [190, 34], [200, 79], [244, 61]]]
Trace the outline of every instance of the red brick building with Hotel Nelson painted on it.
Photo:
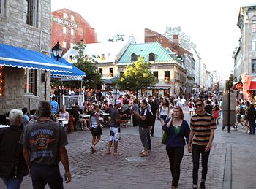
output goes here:
[[56, 42], [64, 47], [64, 53], [69, 50], [72, 45], [83, 40], [83, 43], [97, 42], [97, 34], [94, 28], [77, 12], [69, 9], [59, 9], [51, 12], [52, 14], [52, 39], [51, 46]]

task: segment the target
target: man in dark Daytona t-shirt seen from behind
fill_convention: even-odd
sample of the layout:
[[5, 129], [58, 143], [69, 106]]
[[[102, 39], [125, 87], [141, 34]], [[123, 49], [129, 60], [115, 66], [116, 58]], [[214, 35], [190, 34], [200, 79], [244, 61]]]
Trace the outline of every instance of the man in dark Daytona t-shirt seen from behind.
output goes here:
[[33, 188], [63, 188], [59, 171], [59, 161], [64, 166], [65, 182], [71, 181], [66, 145], [67, 136], [60, 123], [50, 120], [51, 106], [48, 101], [40, 101], [37, 122], [30, 123], [23, 131], [20, 144], [23, 156], [31, 171]]

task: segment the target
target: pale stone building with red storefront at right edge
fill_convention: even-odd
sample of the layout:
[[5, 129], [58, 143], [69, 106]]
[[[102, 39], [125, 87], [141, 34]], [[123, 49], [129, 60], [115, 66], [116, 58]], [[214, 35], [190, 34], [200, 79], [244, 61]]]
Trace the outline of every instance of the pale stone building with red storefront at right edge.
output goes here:
[[256, 96], [256, 5], [240, 7], [237, 23], [240, 43], [233, 52], [234, 77], [243, 82], [240, 99], [252, 100]]

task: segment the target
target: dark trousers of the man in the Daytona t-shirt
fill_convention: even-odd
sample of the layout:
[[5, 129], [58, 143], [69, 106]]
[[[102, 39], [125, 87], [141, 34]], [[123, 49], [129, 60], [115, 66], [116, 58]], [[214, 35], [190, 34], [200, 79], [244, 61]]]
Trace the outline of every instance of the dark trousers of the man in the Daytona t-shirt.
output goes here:
[[45, 185], [48, 184], [50, 188], [63, 189], [59, 165], [46, 166], [32, 163], [31, 168], [33, 188], [44, 189]]

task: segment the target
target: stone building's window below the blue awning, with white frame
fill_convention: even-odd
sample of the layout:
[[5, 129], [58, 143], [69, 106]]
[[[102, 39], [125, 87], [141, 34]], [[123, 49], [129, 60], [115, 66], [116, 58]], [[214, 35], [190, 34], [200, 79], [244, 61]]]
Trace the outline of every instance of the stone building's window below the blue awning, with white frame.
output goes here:
[[36, 83], [36, 70], [34, 69], [24, 69], [24, 93], [25, 94], [35, 94], [35, 83]]

